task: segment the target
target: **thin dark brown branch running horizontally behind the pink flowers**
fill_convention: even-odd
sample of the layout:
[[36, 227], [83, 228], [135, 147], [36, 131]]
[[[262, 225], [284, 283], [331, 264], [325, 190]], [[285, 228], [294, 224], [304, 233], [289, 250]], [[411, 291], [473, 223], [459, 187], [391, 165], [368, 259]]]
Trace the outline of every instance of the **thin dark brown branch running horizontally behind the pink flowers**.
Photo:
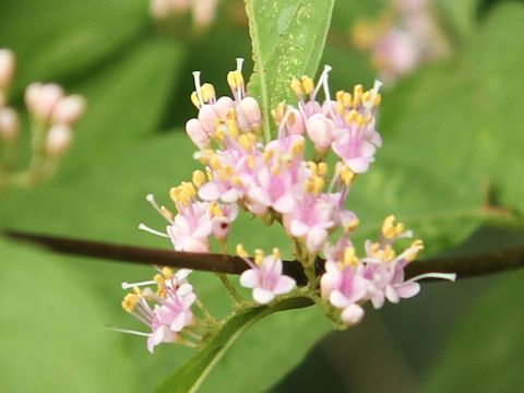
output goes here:
[[[105, 259], [118, 262], [131, 262], [146, 265], [187, 267], [199, 271], [241, 274], [249, 269], [239, 257], [179, 252], [163, 249], [152, 249], [136, 246], [114, 245], [100, 241], [71, 239], [66, 237], [36, 235], [16, 230], [5, 231], [5, 236], [21, 241], [41, 246], [51, 251]], [[406, 267], [406, 276], [414, 277], [429, 272], [456, 273], [458, 278], [499, 273], [524, 266], [524, 247], [480, 254], [432, 258], [410, 263]], [[317, 261], [317, 272], [323, 271], [323, 261]], [[297, 261], [284, 261], [284, 273], [294, 277], [298, 284], [306, 284], [307, 278], [302, 266]]]

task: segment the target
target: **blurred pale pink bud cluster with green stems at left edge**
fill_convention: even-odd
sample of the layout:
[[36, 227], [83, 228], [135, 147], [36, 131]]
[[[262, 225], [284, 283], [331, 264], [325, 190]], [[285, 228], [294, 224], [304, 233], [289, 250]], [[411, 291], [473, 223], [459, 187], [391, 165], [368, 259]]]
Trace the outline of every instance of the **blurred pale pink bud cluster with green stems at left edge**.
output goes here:
[[66, 95], [63, 88], [55, 83], [32, 83], [27, 86], [25, 105], [32, 121], [32, 159], [25, 171], [15, 172], [21, 122], [16, 110], [8, 106], [14, 69], [14, 55], [8, 49], [0, 49], [0, 142], [4, 143], [0, 188], [31, 186], [51, 176], [71, 146], [73, 127], [85, 111], [84, 98]]

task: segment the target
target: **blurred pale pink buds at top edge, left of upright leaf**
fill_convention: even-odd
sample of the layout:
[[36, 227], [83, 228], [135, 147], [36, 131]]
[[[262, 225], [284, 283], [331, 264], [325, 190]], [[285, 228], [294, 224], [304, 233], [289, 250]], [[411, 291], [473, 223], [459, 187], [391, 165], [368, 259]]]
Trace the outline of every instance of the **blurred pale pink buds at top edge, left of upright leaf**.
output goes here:
[[152, 0], [151, 14], [158, 21], [175, 19], [191, 11], [196, 26], [207, 26], [215, 19], [218, 0]]

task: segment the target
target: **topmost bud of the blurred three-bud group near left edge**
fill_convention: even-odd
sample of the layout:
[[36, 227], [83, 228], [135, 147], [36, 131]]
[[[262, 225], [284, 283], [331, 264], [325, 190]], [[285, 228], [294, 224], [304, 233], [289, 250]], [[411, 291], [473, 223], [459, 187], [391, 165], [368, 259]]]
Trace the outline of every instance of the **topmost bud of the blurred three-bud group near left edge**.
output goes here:
[[63, 90], [55, 83], [32, 83], [25, 93], [25, 103], [29, 111], [41, 120], [49, 120]]

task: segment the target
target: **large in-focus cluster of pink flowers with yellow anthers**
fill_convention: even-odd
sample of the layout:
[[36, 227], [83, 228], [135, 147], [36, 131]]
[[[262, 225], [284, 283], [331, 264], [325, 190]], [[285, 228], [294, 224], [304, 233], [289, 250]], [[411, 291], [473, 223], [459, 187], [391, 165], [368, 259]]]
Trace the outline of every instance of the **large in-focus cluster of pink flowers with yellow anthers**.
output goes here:
[[[282, 103], [273, 110], [276, 138], [270, 140], [264, 138], [263, 115], [258, 100], [247, 92], [241, 69], [242, 59], [238, 59], [237, 69], [227, 75], [231, 96], [217, 97], [214, 86], [202, 83], [200, 72], [193, 73], [191, 100], [198, 116], [187, 122], [186, 130], [198, 147], [194, 158], [204, 168], [195, 170], [191, 181], [170, 190], [175, 212], [147, 195], [167, 226], [159, 231], [141, 224], [141, 229], [169, 238], [178, 251], [211, 252], [213, 237], [221, 245], [219, 251], [227, 252], [229, 227], [240, 211], [267, 225], [278, 223], [293, 240], [294, 257], [308, 279], [308, 296], [345, 326], [360, 321], [366, 301], [380, 308], [386, 299], [397, 302], [415, 296], [419, 278], [454, 279], [454, 275], [438, 273], [405, 278], [404, 270], [422, 250], [422, 242], [416, 240], [397, 252], [394, 246], [412, 233], [395, 224], [393, 216], [385, 218], [378, 241], [366, 242], [366, 257], [358, 258], [350, 241], [359, 221], [346, 207], [349, 189], [357, 176], [369, 169], [382, 144], [377, 131], [380, 82], [368, 91], [361, 85], [352, 92], [338, 91], [332, 99], [330, 67], [317, 83], [308, 76], [294, 79], [290, 88], [297, 103]], [[310, 159], [308, 144], [314, 151]], [[335, 158], [332, 164], [327, 163], [330, 155]], [[294, 290], [300, 291], [296, 290], [297, 282], [285, 274], [278, 249], [269, 255], [255, 250], [250, 258], [238, 245], [237, 253], [247, 263], [240, 285], [252, 289], [257, 303], [271, 303], [278, 301], [278, 296], [293, 297]], [[319, 277], [318, 261], [322, 258], [324, 273]], [[237, 309], [251, 307], [225, 275], [221, 279]], [[132, 295], [133, 299], [139, 294]], [[303, 296], [303, 290], [300, 294]], [[152, 320], [146, 321], [153, 330], [151, 337], [160, 325], [162, 334], [170, 332], [168, 340], [177, 336], [174, 333], [183, 333], [154, 324], [157, 312], [151, 312]], [[162, 341], [158, 337], [154, 343]]]

